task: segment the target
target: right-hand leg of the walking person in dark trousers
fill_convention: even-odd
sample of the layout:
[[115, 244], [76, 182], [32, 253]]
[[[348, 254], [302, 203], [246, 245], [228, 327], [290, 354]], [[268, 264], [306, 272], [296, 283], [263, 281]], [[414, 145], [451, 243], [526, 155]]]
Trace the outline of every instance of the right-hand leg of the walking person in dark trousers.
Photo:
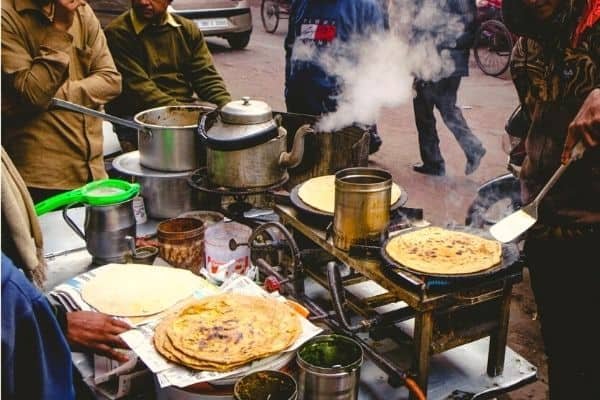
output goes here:
[[456, 94], [460, 86], [460, 76], [444, 78], [436, 83], [436, 106], [444, 123], [450, 129], [467, 157], [465, 173], [473, 173], [479, 166], [485, 149], [481, 141], [471, 132], [460, 108], [456, 106]]

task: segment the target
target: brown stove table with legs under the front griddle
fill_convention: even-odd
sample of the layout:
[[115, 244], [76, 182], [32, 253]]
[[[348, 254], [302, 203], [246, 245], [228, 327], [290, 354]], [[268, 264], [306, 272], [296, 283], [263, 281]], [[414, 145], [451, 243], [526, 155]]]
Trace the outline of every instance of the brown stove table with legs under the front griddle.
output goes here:
[[[381, 243], [365, 243], [348, 252], [342, 251], [333, 245], [330, 229], [322, 218], [315, 219], [313, 224], [310, 215], [286, 204], [277, 204], [275, 212], [301, 244], [300, 253], [311, 250], [307, 247], [312, 245], [316, 247], [313, 250], [324, 254], [321, 258], [326, 260], [327, 268], [319, 262], [303, 259], [293, 268], [291, 276], [284, 274], [280, 278], [290, 282], [290, 294], [320, 315], [318, 318], [332, 329], [353, 337], [357, 332], [367, 331], [372, 338], [395, 332], [391, 333], [391, 339], [405, 341], [406, 334], [397, 333], [396, 324], [413, 319], [414, 330], [408, 338], [413, 343], [410, 371], [425, 392], [432, 355], [486, 336], [490, 337], [487, 373], [490, 377], [502, 374], [512, 285], [522, 280], [518, 249], [509, 247], [509, 253], [504, 254], [506, 265], [494, 269], [493, 273], [460, 279], [417, 275], [386, 263], [381, 256]], [[387, 235], [424, 225], [422, 210], [400, 207], [392, 213]], [[340, 274], [340, 268], [349, 273]], [[329, 290], [333, 311], [324, 311], [315, 305], [304, 292], [303, 278], [310, 278]], [[381, 291], [365, 296], [352, 294], [350, 289], [364, 282], [372, 283]], [[377, 311], [399, 302], [404, 304], [399, 309]], [[349, 310], [354, 317], [345, 317]], [[363, 319], [355, 322], [357, 316]], [[390, 382], [398, 381], [398, 377], [402, 380], [403, 372], [389, 360], [382, 359], [376, 348], [367, 352], [388, 373]]]

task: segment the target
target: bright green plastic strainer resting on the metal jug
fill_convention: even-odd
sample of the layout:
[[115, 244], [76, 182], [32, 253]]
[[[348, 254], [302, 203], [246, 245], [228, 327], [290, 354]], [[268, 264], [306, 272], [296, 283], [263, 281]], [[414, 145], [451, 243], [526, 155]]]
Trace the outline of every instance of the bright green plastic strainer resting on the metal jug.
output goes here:
[[102, 179], [90, 182], [78, 189], [57, 194], [36, 204], [35, 213], [40, 216], [73, 203], [85, 203], [92, 206], [116, 204], [136, 196], [139, 192], [139, 183], [129, 183], [120, 179]]

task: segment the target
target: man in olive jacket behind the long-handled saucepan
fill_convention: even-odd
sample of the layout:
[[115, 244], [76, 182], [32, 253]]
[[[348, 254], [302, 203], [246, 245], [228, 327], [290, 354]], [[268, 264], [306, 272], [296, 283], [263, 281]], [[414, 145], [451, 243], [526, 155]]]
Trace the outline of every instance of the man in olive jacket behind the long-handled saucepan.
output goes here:
[[[171, 14], [171, 0], [133, 0], [132, 8], [105, 29], [108, 46], [123, 76], [121, 96], [109, 113], [132, 118], [153, 107], [204, 101], [231, 101], [202, 33], [193, 21]], [[132, 130], [117, 128], [123, 141], [137, 147]]]

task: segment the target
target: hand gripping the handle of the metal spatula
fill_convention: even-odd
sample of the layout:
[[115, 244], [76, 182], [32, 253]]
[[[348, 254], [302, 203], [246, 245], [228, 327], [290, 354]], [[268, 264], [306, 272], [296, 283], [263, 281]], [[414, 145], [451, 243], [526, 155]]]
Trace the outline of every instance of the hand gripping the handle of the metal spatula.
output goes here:
[[569, 162], [571, 152], [580, 140], [586, 148], [600, 145], [600, 88], [590, 92], [569, 125], [565, 147], [561, 155], [563, 164]]

